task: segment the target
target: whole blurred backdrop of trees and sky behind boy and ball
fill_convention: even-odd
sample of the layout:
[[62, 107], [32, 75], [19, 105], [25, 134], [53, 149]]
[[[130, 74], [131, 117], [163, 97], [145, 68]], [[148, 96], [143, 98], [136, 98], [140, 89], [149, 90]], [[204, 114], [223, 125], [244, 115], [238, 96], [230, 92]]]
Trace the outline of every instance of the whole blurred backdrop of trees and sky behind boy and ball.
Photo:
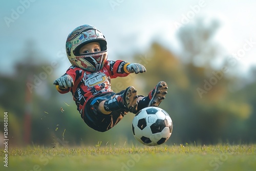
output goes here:
[[[110, 60], [147, 69], [112, 79], [116, 92], [147, 95], [164, 80], [160, 107], [173, 120], [166, 144], [256, 142], [255, 1], [40, 1], [2, 3], [0, 136], [8, 112], [9, 144], [138, 144], [129, 113], [108, 132], [80, 118], [72, 94], [53, 82], [70, 67], [65, 43], [77, 26], [97, 27]], [[3, 143], [0, 143], [3, 145]]]

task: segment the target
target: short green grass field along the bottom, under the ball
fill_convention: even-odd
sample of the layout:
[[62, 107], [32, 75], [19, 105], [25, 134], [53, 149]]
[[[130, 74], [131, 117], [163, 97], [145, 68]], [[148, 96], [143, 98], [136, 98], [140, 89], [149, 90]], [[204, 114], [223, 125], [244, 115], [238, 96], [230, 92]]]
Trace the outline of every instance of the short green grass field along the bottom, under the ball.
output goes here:
[[[1, 149], [1, 158], [5, 155]], [[1, 170], [256, 170], [256, 145], [27, 147], [8, 151]]]

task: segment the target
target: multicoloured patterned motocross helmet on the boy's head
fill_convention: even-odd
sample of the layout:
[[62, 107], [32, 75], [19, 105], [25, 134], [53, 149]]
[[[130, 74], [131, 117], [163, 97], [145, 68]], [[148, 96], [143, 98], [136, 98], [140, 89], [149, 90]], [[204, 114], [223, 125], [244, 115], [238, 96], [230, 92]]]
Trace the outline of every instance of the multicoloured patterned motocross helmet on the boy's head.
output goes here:
[[[98, 42], [101, 51], [86, 55], [80, 54], [80, 48], [91, 42]], [[91, 25], [79, 26], [69, 34], [66, 41], [66, 52], [73, 66], [91, 72], [101, 70], [108, 58], [104, 35]]]

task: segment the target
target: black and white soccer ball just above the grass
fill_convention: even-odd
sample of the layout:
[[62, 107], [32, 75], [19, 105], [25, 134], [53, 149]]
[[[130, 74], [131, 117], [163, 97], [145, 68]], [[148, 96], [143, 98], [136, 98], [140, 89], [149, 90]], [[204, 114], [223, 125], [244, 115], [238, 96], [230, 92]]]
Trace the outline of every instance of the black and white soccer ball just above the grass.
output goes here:
[[168, 140], [173, 131], [173, 121], [167, 112], [158, 107], [140, 110], [132, 123], [135, 139], [145, 145], [160, 145]]

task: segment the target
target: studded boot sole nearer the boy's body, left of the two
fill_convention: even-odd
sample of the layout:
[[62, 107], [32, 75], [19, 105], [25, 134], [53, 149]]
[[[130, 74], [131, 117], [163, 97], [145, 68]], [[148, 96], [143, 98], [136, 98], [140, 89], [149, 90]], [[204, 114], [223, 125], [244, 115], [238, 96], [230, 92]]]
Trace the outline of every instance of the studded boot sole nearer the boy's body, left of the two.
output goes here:
[[134, 87], [129, 87], [125, 94], [125, 105], [129, 112], [137, 111], [137, 90]]

